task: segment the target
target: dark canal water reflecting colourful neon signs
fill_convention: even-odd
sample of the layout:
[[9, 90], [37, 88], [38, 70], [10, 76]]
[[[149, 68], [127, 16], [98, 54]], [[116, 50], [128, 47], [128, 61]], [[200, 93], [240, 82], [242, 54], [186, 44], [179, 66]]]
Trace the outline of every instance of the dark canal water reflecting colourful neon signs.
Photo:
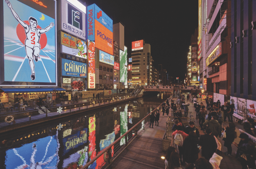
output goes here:
[[[170, 94], [144, 96], [1, 134], [0, 169], [81, 168], [159, 106]], [[121, 139], [120, 145], [124, 143], [125, 140]], [[99, 168], [103, 164], [103, 159], [98, 160], [94, 162], [93, 168]]]

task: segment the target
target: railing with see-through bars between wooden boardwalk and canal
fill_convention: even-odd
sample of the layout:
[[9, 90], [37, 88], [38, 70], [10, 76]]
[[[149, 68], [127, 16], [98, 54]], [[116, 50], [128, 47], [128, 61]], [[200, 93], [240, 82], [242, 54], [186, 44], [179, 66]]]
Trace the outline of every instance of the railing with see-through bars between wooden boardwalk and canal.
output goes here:
[[[172, 96], [171, 96], [171, 98], [172, 98]], [[169, 99], [169, 100], [171, 100], [171, 99]], [[168, 99], [166, 101], [168, 101]], [[91, 159], [81, 169], [91, 169], [91, 168], [94, 168], [95, 166], [94, 166], [93, 163], [96, 160], [97, 160], [97, 163], [102, 164], [101, 168], [109, 167], [109, 165], [125, 150], [125, 148], [145, 128], [145, 124], [147, 122], [149, 122], [150, 114], [154, 113], [157, 110], [159, 110], [161, 108], [161, 105], [156, 107], [153, 111], [151, 111], [148, 115], [146, 115], [141, 121], [139, 121], [137, 124], [135, 124], [130, 130], [128, 130], [126, 133], [124, 133], [122, 136], [120, 136], [117, 140], [115, 140], [112, 144], [110, 144], [107, 148], [105, 148], [103, 151], [101, 151], [96, 157]], [[106, 154], [108, 154], [109, 158], [106, 161], [104, 161], [103, 157], [106, 157]], [[101, 160], [101, 161], [99, 161], [99, 160]]]

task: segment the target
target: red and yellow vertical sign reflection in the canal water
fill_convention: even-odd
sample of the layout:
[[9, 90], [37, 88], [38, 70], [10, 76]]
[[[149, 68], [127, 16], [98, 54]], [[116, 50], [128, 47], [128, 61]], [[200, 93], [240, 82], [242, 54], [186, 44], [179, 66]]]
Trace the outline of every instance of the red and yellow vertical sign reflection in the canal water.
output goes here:
[[[96, 157], [96, 149], [95, 149], [95, 115], [89, 118], [89, 156], [90, 160]], [[96, 167], [96, 161], [93, 162], [89, 166], [89, 168], [93, 169]]]

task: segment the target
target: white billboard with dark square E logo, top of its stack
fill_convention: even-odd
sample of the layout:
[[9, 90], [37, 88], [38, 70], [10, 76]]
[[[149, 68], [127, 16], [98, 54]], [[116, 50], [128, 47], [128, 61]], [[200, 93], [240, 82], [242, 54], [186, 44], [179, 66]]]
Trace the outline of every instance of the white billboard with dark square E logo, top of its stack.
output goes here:
[[86, 7], [78, 0], [61, 0], [61, 30], [86, 39]]

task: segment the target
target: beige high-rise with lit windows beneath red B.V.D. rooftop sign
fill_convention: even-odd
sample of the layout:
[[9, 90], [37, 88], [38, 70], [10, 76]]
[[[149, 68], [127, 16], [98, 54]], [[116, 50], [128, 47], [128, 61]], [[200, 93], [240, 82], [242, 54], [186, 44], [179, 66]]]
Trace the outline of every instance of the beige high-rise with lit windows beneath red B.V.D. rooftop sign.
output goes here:
[[132, 85], [153, 85], [153, 59], [150, 44], [145, 44], [143, 40], [143, 49], [132, 51], [131, 58]]

